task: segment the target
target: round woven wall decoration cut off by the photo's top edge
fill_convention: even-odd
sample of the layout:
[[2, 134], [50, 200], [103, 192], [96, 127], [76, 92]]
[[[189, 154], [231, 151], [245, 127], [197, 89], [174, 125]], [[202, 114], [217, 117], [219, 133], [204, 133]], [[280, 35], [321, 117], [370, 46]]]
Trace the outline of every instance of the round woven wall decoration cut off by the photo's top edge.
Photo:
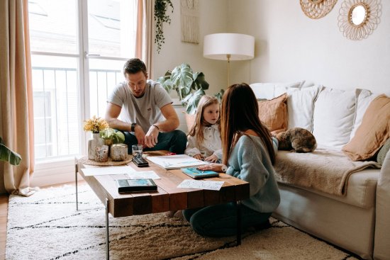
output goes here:
[[319, 19], [332, 11], [338, 0], [299, 0], [303, 13], [309, 18]]

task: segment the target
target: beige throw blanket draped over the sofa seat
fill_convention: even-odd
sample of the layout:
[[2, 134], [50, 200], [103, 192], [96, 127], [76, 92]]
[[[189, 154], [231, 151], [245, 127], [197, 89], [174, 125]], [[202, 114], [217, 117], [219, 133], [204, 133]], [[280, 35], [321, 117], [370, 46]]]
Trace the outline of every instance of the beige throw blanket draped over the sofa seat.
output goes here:
[[316, 149], [300, 154], [278, 151], [274, 165], [280, 183], [312, 188], [337, 196], [347, 193], [347, 180], [351, 174], [367, 167], [381, 168], [377, 162], [352, 162], [342, 152]]

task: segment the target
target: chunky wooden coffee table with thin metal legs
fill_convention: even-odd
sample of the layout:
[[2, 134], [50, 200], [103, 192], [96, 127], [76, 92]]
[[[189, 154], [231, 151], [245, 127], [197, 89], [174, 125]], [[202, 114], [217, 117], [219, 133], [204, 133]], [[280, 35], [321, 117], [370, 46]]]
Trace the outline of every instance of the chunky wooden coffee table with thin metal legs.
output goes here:
[[[149, 156], [165, 155], [167, 151], [148, 152]], [[147, 159], [147, 158], [146, 158]], [[236, 202], [238, 225], [237, 244], [241, 243], [241, 213], [240, 200], [249, 198], [249, 183], [228, 174], [220, 174], [218, 178], [209, 178], [210, 181], [224, 181], [220, 191], [209, 191], [192, 188], [177, 188], [184, 179], [191, 179], [180, 169], [166, 170], [157, 164], [149, 162], [150, 167], [138, 168], [129, 162], [128, 166], [137, 171], [155, 171], [161, 179], [154, 180], [157, 191], [145, 193], [119, 194], [116, 179], [126, 179], [125, 175], [84, 176], [80, 171], [86, 167], [96, 167], [79, 162], [75, 159], [76, 181], [76, 209], [78, 208], [77, 173], [87, 181], [92, 191], [99, 197], [106, 208], [106, 259], [109, 259], [108, 213], [113, 217], [126, 217], [150, 213], [162, 213], [169, 210], [185, 210], [201, 208], [227, 202]]]

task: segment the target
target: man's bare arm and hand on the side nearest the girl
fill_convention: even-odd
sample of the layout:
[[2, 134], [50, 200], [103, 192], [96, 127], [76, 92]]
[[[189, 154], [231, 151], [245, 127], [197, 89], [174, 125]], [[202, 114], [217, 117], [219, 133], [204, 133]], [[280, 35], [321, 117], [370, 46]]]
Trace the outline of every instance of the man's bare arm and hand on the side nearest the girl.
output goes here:
[[179, 117], [171, 103], [160, 108], [165, 120], [151, 125], [145, 135], [145, 145], [147, 147], [155, 147], [157, 144], [158, 132], [170, 132], [179, 126]]

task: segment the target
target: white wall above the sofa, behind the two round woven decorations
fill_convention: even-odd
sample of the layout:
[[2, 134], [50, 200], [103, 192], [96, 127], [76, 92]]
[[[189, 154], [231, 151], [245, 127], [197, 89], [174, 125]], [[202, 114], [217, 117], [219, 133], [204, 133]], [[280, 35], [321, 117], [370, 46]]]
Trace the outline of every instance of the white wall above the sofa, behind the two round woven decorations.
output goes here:
[[342, 1], [327, 16], [308, 18], [299, 1], [230, 0], [231, 32], [255, 36], [255, 59], [233, 67], [249, 81], [306, 79], [339, 89], [390, 91], [390, 3], [381, 1], [380, 23], [365, 40], [348, 40], [338, 28]]

